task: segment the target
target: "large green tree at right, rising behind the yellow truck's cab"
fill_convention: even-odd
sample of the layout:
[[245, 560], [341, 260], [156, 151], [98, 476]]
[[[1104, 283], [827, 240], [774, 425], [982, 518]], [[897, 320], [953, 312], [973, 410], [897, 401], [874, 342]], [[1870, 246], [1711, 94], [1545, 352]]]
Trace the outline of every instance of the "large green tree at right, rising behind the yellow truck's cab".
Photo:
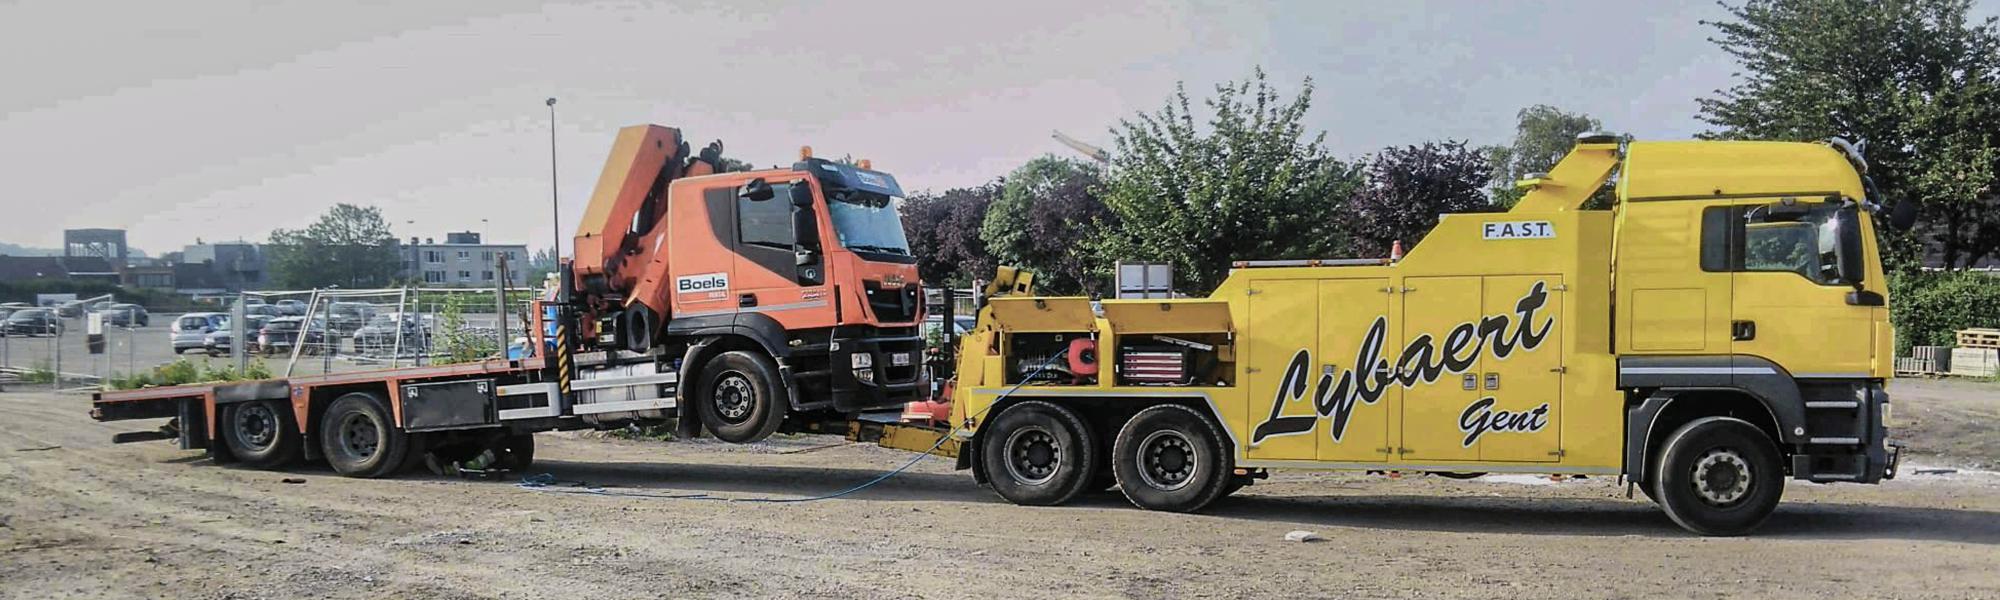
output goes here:
[[1700, 98], [1718, 138], [1864, 140], [1884, 204], [1916, 202], [1914, 236], [1884, 232], [1890, 268], [2000, 250], [2000, 34], [1970, 0], [1752, 0], [1708, 22], [1742, 82]]

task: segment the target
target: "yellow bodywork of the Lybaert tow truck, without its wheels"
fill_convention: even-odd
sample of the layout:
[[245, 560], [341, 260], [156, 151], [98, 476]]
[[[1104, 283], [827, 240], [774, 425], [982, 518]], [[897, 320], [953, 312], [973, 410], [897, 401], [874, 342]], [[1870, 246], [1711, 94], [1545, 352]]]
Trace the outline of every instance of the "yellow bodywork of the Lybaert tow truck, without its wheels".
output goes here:
[[[1580, 210], [1612, 174], [1618, 208]], [[1222, 424], [1238, 468], [1618, 474], [1620, 358], [1748, 354], [1888, 378], [1886, 308], [1848, 302], [1886, 296], [1868, 218], [1860, 290], [1704, 270], [1704, 210], [1860, 188], [1820, 144], [1582, 144], [1512, 212], [1446, 214], [1394, 264], [1238, 268], [1206, 300], [1104, 300], [1100, 318], [1082, 298], [994, 298], [960, 352], [954, 422], [976, 432], [1004, 394], [1186, 402]], [[1732, 340], [1740, 320], [1756, 338]], [[1106, 372], [1124, 334], [1206, 336], [1234, 376], [1016, 390], [1000, 382], [1010, 332], [1094, 336]]]

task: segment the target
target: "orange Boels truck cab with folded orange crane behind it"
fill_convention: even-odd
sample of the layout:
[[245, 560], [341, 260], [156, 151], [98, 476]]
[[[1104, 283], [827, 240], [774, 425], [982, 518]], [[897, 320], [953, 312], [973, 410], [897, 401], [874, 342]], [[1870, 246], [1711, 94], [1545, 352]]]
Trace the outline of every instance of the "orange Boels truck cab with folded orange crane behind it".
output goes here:
[[[792, 168], [746, 172], [718, 172], [720, 154], [714, 142], [690, 156], [674, 128], [618, 132], [542, 310], [570, 402], [672, 410], [684, 432], [750, 442], [788, 414], [928, 392], [896, 178], [810, 148]], [[640, 396], [656, 398], [624, 404]]]

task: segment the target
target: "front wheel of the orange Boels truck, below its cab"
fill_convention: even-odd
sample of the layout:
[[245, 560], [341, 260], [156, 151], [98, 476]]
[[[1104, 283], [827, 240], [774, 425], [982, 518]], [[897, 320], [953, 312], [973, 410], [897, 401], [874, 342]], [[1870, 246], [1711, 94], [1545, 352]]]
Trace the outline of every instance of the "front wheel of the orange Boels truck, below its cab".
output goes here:
[[694, 410], [718, 440], [750, 444], [770, 438], [792, 406], [778, 382], [778, 366], [760, 354], [722, 352], [702, 368]]

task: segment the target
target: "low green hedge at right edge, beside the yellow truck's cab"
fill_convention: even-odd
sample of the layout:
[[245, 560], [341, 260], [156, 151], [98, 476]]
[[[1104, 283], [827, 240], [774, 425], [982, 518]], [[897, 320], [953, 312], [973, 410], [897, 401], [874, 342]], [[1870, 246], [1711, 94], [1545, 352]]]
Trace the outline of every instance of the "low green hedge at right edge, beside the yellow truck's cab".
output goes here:
[[1958, 330], [2000, 326], [2000, 278], [1984, 272], [1902, 272], [1888, 278], [1896, 354], [1954, 346]]

